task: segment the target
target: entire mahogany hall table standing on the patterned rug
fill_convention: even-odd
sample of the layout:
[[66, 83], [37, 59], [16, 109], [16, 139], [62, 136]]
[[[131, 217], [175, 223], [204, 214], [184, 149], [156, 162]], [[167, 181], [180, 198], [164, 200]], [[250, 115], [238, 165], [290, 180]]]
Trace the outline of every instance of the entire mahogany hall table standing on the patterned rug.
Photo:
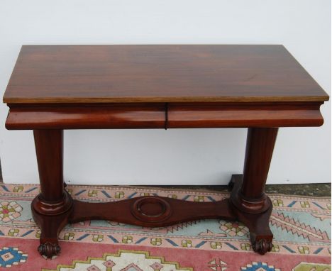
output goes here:
[[[264, 192], [279, 127], [321, 126], [326, 92], [282, 45], [26, 45], [4, 102], [6, 128], [33, 130], [41, 192], [32, 202], [41, 255], [60, 253], [67, 223], [159, 227], [194, 219], [245, 223], [253, 250], [272, 248]], [[248, 128], [230, 199], [73, 200], [62, 177], [64, 129]]]

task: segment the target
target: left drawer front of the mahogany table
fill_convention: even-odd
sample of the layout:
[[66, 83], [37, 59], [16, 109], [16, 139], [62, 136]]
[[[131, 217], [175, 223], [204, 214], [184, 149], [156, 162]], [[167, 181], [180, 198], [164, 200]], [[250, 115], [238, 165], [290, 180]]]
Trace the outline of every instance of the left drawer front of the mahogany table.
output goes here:
[[165, 104], [13, 106], [7, 129], [165, 128]]

